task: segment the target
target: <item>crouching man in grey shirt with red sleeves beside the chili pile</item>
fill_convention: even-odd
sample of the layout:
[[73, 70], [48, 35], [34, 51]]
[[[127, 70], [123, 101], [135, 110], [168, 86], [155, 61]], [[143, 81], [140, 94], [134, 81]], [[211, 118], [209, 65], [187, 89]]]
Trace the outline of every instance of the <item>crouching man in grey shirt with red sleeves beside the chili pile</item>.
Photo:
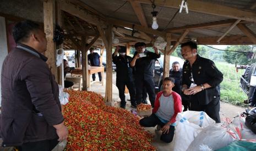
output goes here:
[[156, 95], [155, 106], [152, 114], [139, 121], [141, 126], [161, 126], [161, 140], [170, 143], [175, 133], [176, 115], [182, 111], [181, 96], [172, 91], [175, 80], [166, 77], [162, 84], [163, 90]]

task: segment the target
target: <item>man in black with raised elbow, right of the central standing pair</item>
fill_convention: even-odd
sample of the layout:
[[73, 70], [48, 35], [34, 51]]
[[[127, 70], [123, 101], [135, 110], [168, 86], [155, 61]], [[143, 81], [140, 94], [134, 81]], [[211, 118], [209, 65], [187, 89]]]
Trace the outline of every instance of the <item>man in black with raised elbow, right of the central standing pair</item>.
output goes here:
[[143, 97], [143, 88], [145, 86], [149, 95], [151, 106], [154, 107], [156, 98], [154, 84], [154, 64], [155, 59], [159, 58], [161, 54], [155, 47], [155, 53], [146, 50], [145, 43], [136, 43], [134, 47], [136, 51], [133, 55], [132, 62], [130, 62], [130, 66], [135, 67], [136, 101], [137, 104], [141, 103]]

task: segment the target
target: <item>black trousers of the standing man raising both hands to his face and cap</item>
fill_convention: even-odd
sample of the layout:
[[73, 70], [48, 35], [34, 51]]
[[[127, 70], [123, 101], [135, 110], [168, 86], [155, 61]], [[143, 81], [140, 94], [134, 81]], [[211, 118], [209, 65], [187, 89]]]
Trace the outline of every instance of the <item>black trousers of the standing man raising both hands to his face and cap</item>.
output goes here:
[[149, 95], [149, 101], [151, 103], [151, 106], [154, 107], [156, 94], [155, 94], [155, 84], [153, 78], [151, 79], [138, 79], [135, 78], [135, 86], [136, 86], [136, 101], [137, 104], [140, 104], [143, 98], [143, 89], [146, 88], [146, 92], [148, 92]]

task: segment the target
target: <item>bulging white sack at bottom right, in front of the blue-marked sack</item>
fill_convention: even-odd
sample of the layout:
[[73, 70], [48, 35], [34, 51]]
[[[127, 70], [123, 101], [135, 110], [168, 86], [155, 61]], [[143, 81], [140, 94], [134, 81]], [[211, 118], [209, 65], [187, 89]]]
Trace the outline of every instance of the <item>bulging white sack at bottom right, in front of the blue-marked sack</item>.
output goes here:
[[206, 145], [209, 148], [216, 150], [228, 146], [236, 140], [235, 132], [222, 127], [221, 124], [210, 125], [201, 131], [194, 141], [189, 145], [187, 151], [200, 150], [201, 145]]

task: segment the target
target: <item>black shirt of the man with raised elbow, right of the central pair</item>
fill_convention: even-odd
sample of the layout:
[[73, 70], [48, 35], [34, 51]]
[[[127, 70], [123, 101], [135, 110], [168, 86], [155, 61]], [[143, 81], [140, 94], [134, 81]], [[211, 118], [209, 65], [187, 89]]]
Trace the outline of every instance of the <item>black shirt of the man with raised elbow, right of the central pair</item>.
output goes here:
[[[145, 50], [146, 57], [141, 57], [135, 62], [135, 78], [138, 79], [152, 79], [154, 77], [155, 60], [161, 56], [156, 53], [152, 53]], [[137, 55], [137, 51], [134, 53], [133, 58]]]

